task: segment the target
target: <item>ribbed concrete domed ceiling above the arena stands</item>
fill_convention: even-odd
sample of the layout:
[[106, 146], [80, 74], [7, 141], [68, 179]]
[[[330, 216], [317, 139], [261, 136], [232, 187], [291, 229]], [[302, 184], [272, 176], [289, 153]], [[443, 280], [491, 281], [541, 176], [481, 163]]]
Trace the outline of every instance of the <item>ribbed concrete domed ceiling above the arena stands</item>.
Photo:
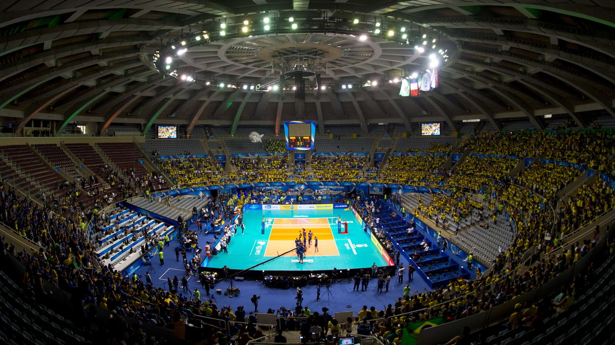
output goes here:
[[[116, 123], [275, 125], [294, 117], [294, 97], [228, 85], [275, 80], [272, 54], [308, 47], [331, 56], [327, 90], [306, 92], [306, 119], [325, 125], [441, 121], [454, 129], [481, 119], [499, 129], [527, 118], [543, 128], [543, 115], [562, 114], [583, 128], [592, 112], [615, 117], [613, 1], [6, 0], [0, 10], [0, 118], [19, 126], [33, 118], [54, 120], [57, 131], [75, 121], [98, 131]], [[290, 17], [296, 31], [261, 30], [264, 18]], [[210, 85], [154, 67], [156, 52], [222, 23], [227, 36], [190, 47], [173, 66]], [[431, 42], [421, 53], [387, 37], [402, 27], [450, 55], [436, 90], [400, 97], [400, 85], [388, 82], [421, 71], [432, 53]], [[379, 83], [363, 87], [367, 80]], [[358, 87], [340, 87], [347, 83]]]

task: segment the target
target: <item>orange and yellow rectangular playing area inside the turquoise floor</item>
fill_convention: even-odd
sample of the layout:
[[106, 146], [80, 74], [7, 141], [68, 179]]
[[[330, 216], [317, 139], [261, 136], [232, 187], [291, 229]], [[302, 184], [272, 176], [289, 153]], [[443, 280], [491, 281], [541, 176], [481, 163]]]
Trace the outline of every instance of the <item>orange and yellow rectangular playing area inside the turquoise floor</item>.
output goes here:
[[[295, 247], [295, 239], [299, 238], [300, 234], [303, 234], [303, 229], [306, 230], [306, 234], [310, 230], [313, 233], [312, 245], [308, 245], [306, 257], [339, 255], [329, 222], [334, 222], [334, 220], [327, 218], [274, 219], [264, 256], [275, 257]], [[314, 238], [316, 237], [318, 238], [318, 252], [314, 252]], [[285, 256], [294, 255], [296, 254], [291, 252]]]

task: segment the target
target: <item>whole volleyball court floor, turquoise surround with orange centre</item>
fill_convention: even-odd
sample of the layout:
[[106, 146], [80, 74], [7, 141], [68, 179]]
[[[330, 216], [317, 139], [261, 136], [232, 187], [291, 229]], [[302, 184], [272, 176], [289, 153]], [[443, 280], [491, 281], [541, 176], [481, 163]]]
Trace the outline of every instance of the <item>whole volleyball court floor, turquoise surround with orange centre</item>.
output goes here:
[[[392, 264], [391, 258], [370, 232], [363, 231], [363, 222], [354, 209], [346, 204], [317, 205], [247, 205], [244, 207], [245, 231], [237, 229], [228, 246], [228, 254], [220, 253], [207, 267], [246, 269], [257, 263], [276, 257], [295, 248], [295, 239], [303, 229], [312, 231], [311, 245], [308, 244], [303, 264], [299, 263], [296, 252], [290, 252], [255, 268], [264, 271], [317, 271], [341, 268], [367, 268], [373, 263], [378, 266]], [[338, 217], [342, 221], [338, 233]], [[264, 235], [261, 234], [264, 222]], [[318, 251], [315, 239], [318, 238]]]

